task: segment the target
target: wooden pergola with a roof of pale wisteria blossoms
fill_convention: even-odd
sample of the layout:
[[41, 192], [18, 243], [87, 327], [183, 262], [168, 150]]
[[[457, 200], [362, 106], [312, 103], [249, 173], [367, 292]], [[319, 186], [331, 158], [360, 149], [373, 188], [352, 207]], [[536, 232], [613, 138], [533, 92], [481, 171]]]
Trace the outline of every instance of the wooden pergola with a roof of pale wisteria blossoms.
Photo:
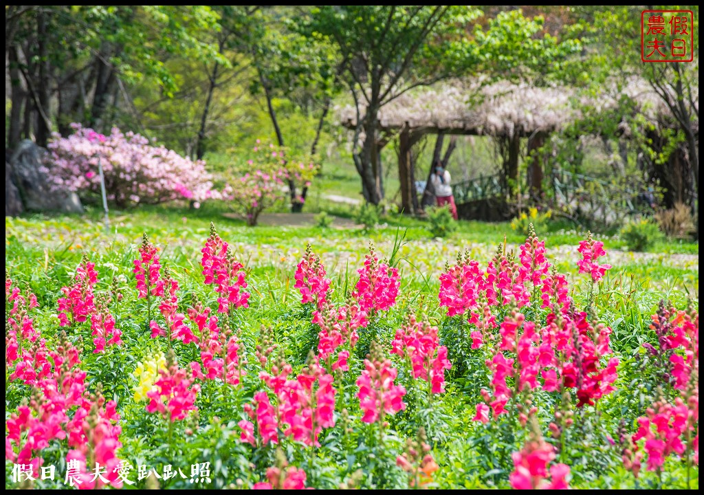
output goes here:
[[[616, 87], [616, 86], [614, 86]], [[401, 180], [403, 210], [416, 213], [422, 208], [415, 194], [415, 163], [413, 146], [427, 134], [436, 134], [433, 163], [445, 165], [455, 147], [458, 135], [486, 135], [501, 140], [505, 148], [505, 177], [517, 180], [520, 160], [520, 140], [527, 138], [529, 163], [528, 184], [532, 195], [541, 194], [543, 164], [534, 149], [543, 146], [551, 132], [573, 122], [581, 115], [579, 106], [613, 108], [622, 94], [636, 101], [648, 118], [668, 114], [667, 108], [643, 80], [630, 80], [621, 89], [612, 89], [589, 101], [576, 101], [571, 87], [536, 87], [508, 81], [494, 84], [454, 80], [433, 87], [418, 89], [398, 96], [379, 112], [382, 135], [379, 149], [398, 136], [398, 176]], [[356, 127], [359, 113], [353, 106], [339, 108], [339, 122], [348, 129]], [[451, 136], [443, 153], [444, 137]], [[432, 170], [432, 167], [431, 167]], [[428, 175], [429, 178], [429, 175]], [[427, 181], [429, 184], [429, 181]], [[428, 186], [427, 186], [428, 187]], [[426, 190], [427, 191], [427, 190]], [[431, 191], [432, 192], [432, 191]], [[432, 195], [430, 195], [432, 199]], [[424, 194], [426, 199], [426, 194]]]

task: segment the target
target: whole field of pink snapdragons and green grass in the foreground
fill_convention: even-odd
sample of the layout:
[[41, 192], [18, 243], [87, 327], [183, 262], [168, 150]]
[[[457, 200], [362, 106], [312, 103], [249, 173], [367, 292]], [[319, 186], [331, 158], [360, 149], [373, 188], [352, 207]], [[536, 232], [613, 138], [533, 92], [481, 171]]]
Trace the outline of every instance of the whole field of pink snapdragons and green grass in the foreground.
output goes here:
[[698, 258], [125, 222], [6, 220], [6, 487], [698, 488]]

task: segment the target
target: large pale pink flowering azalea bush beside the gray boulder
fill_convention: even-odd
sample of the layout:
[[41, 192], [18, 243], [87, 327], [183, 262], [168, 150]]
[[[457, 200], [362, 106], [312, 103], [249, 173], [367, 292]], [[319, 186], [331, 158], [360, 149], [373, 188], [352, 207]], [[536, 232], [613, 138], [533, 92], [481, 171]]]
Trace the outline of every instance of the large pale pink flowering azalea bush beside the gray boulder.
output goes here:
[[54, 134], [44, 172], [56, 189], [100, 192], [99, 165], [103, 167], [108, 199], [118, 207], [137, 203], [163, 203], [187, 199], [198, 205], [213, 196], [213, 182], [203, 161], [191, 161], [164, 146], [117, 127], [107, 136], [72, 124], [74, 134]]

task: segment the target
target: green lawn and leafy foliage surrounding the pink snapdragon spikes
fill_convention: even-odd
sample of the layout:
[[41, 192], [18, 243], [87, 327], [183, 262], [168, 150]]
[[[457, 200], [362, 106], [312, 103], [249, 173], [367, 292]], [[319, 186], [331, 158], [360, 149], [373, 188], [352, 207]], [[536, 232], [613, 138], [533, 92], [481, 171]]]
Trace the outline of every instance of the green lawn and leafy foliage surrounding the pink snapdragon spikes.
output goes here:
[[[68, 329], [70, 339], [78, 342], [82, 337], [86, 348], [81, 355], [81, 367], [87, 372], [89, 390], [94, 391], [102, 383], [103, 394], [118, 402], [122, 427], [120, 458], [132, 465], [171, 463], [185, 469], [208, 461], [212, 481], [203, 486], [211, 488], [236, 487], [238, 483], [251, 487], [263, 480], [266, 469], [277, 462], [276, 449], [252, 448], [241, 443], [237, 426], [239, 421], [249, 418], [244, 405], [263, 387], [255, 356], [256, 346], [263, 343], [266, 334], [262, 329], [269, 329], [268, 338], [274, 339], [278, 346], [275, 356], [291, 364], [294, 374], [302, 372], [309, 351], [315, 350], [318, 343], [318, 327], [310, 322], [313, 310], [301, 305], [301, 294], [294, 288], [296, 263], [301, 260], [306, 244], [310, 243], [320, 255], [333, 289], [329, 301], [339, 306], [358, 280], [357, 270], [363, 265], [371, 241], [379, 258], [391, 256], [394, 246], [398, 248], [400, 289], [396, 305], [388, 313], [375, 316], [368, 329], [360, 330], [360, 344], [350, 358], [351, 371], [339, 384], [336, 381], [337, 426], [323, 430], [321, 446], [312, 449], [288, 438], [282, 439], [280, 446], [292, 465], [306, 470], [308, 486], [334, 489], [341, 482], [360, 477], [361, 487], [403, 489], [408, 488], [408, 479], [396, 466], [396, 457], [404, 451], [406, 441], [417, 437], [422, 427], [431, 449], [429, 453], [439, 465], [433, 475], [437, 487], [508, 487], [508, 475], [513, 470], [511, 453], [522, 448], [528, 430], [520, 427], [513, 413], [488, 425], [472, 421], [474, 408], [482, 401], [479, 389], [489, 387], [490, 373], [485, 360], [490, 357], [491, 346], [470, 349], [472, 341], [467, 337], [466, 320], [446, 317], [446, 310], [439, 306], [438, 290], [439, 275], [445, 271], [446, 263], [455, 263], [458, 253], [467, 251], [484, 267], [497, 246], [504, 242], [504, 236], [508, 250], [517, 252], [524, 241], [520, 234], [511, 230], [508, 223], [460, 222], [451, 237], [434, 239], [428, 233], [427, 223], [413, 218], [383, 218], [382, 224], [370, 232], [359, 228], [321, 229], [313, 225], [246, 227], [244, 222], [225, 218], [222, 213], [217, 206], [207, 204], [199, 210], [143, 207], [113, 211], [107, 234], [102, 215], [95, 210], [84, 216], [6, 218], [6, 270], [15, 287], [27, 287], [37, 295], [40, 307], [35, 310], [34, 325], [41, 330], [48, 346], [56, 345], [62, 330], [56, 320], [56, 299], [62, 295], [61, 287], [72, 283], [83, 253], [96, 263], [99, 273], [96, 290], [106, 292], [113, 286], [124, 294], [120, 303], [113, 301], [110, 306], [116, 326], [123, 331], [125, 344], [120, 348], [108, 347], [106, 353], [94, 354], [87, 323]], [[247, 274], [249, 308], [240, 308], [228, 319], [242, 344], [240, 356], [248, 360], [247, 375], [237, 387], [225, 387], [213, 380], [203, 382], [196, 401], [198, 413], [168, 426], [160, 415], [147, 413], [145, 403], [133, 397], [136, 381], [132, 372], [137, 364], [156, 351], [166, 353], [168, 346], [164, 339], [149, 338], [146, 305], [144, 299], [136, 296], [132, 261], [138, 256], [142, 233], [146, 232], [160, 249], [162, 265], [168, 266], [180, 285], [179, 311], [186, 313], [194, 298], [211, 308], [217, 307], [212, 286], [203, 285], [201, 275], [201, 249], [211, 221]], [[689, 486], [697, 487], [698, 468], [691, 468], [688, 475], [684, 463], [675, 456], [667, 459], [661, 479], [643, 468], [641, 477], [635, 481], [623, 468], [620, 446], [612, 446], [608, 438], [618, 439], [622, 418], [628, 431], [635, 432], [636, 418], [645, 415], [656, 396], [664, 393], [659, 388], [662, 383], [658, 382], [661, 377], [655, 372], [657, 368], [647, 360], [641, 344], [657, 343], [650, 329], [650, 315], [661, 300], [671, 301], [678, 309], [698, 307], [698, 244], [657, 244], [648, 253], [629, 253], [622, 249], [617, 237], [601, 237], [595, 232], [594, 237], [602, 239], [608, 251], [604, 262], [613, 265], [595, 288], [590, 287], [591, 280], [584, 274], [577, 273], [575, 264], [577, 244], [586, 234], [562, 227], [551, 225], [548, 232], [539, 232], [546, 240], [548, 261], [565, 273], [578, 310], [586, 308], [586, 301], [593, 300], [590, 311], [594, 322], [612, 329], [611, 348], [620, 359], [616, 390], [601, 399], [598, 407], [579, 409], [574, 427], [565, 432], [559, 460], [570, 465], [570, 486], [656, 488], [662, 483], [662, 487], [681, 488], [686, 486], [689, 476]], [[536, 295], [539, 296], [539, 289], [533, 294]], [[508, 315], [509, 309], [496, 308], [497, 321]], [[542, 321], [545, 313], [537, 307], [524, 311], [527, 318], [536, 321]], [[156, 313], [154, 304], [151, 314]], [[355, 380], [363, 369], [363, 358], [371, 340], [377, 339], [390, 349], [391, 339], [409, 314], [422, 315], [431, 325], [439, 327], [439, 342], [448, 347], [453, 368], [446, 372], [444, 394], [427, 396], [427, 384], [411, 378], [403, 359], [394, 357], [394, 365], [400, 370], [397, 382], [408, 389], [405, 399], [408, 407], [393, 417], [387, 416], [389, 425], [379, 440], [377, 426], [360, 421]], [[162, 321], [161, 315], [155, 318]], [[180, 342], [173, 346], [180, 365], [200, 359], [193, 346]], [[7, 370], [6, 367], [6, 411], [11, 412], [27, 400], [30, 389], [8, 380]], [[672, 387], [667, 390], [668, 400], [674, 400], [676, 392]], [[543, 435], [559, 445], [560, 441], [548, 438], [547, 427], [554, 420], [559, 394], [539, 391], [533, 400], [540, 408], [536, 418]], [[42, 451], [45, 462], [59, 465], [59, 472], [63, 472], [61, 463], [65, 462], [62, 460], [65, 453], [65, 441], [58, 440]], [[6, 461], [8, 487], [16, 486], [8, 482], [11, 468]], [[191, 486], [180, 477], [162, 483], [163, 488]], [[144, 482], [139, 482], [135, 487], [143, 485]], [[58, 484], [39, 487], [58, 487]]]

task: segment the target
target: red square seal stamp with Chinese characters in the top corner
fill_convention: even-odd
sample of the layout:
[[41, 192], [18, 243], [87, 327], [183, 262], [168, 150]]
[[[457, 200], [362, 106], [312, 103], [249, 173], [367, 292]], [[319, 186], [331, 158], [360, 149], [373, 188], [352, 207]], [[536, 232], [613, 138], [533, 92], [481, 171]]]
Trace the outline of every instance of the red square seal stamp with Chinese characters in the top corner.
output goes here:
[[641, 60], [691, 62], [694, 60], [692, 11], [642, 11]]

